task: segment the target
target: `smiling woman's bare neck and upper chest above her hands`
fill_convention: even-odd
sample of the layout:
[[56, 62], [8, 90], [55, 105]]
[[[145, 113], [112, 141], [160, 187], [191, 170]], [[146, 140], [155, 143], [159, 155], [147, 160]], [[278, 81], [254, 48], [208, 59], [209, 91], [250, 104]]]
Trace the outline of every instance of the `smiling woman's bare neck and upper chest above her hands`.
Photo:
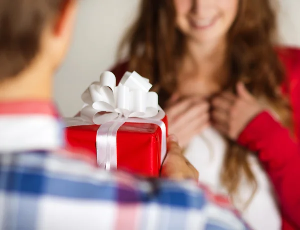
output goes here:
[[220, 92], [228, 76], [225, 61], [225, 43], [188, 42], [178, 73], [178, 93], [181, 96], [210, 98]]

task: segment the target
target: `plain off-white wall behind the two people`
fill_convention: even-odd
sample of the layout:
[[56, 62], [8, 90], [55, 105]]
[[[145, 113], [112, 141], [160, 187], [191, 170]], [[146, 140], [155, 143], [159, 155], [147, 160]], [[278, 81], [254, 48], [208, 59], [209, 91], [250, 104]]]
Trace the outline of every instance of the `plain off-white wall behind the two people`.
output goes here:
[[[55, 99], [64, 116], [80, 110], [81, 93], [114, 63], [117, 44], [140, 0], [81, 0], [68, 57], [55, 77]], [[300, 0], [280, 0], [279, 26], [285, 44], [300, 46]]]

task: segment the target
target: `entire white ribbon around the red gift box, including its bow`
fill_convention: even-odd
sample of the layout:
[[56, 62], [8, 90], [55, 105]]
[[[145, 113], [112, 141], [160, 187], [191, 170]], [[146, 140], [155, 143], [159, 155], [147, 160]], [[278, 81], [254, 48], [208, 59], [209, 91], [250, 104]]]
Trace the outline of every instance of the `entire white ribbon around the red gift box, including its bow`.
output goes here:
[[98, 124], [97, 161], [107, 170], [117, 167], [116, 134], [126, 122], [156, 124], [162, 131], [161, 163], [166, 155], [165, 113], [158, 95], [149, 92], [152, 85], [138, 73], [126, 72], [118, 86], [115, 75], [104, 72], [82, 94], [85, 103], [80, 117], [65, 119], [66, 126]]

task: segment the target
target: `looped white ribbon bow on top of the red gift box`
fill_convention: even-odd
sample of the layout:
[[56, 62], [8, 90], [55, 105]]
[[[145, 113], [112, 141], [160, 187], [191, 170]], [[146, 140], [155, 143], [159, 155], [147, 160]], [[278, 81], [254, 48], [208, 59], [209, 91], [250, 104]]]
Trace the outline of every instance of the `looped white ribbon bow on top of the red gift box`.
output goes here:
[[115, 75], [103, 72], [82, 94], [85, 103], [81, 118], [101, 125], [118, 118], [161, 120], [165, 113], [158, 105], [158, 95], [149, 92], [152, 85], [138, 73], [126, 72], [118, 86]]

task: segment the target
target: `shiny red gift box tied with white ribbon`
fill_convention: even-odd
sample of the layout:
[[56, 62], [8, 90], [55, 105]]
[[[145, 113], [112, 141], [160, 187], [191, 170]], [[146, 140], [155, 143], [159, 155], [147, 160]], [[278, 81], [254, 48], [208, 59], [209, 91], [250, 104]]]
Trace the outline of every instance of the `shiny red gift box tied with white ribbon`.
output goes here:
[[[162, 121], [167, 127], [167, 118]], [[90, 157], [96, 160], [96, 138], [99, 127], [100, 125], [67, 127], [67, 141], [72, 147], [88, 150]], [[159, 176], [162, 132], [158, 125], [125, 123], [118, 129], [116, 141], [118, 170], [141, 176]]]

